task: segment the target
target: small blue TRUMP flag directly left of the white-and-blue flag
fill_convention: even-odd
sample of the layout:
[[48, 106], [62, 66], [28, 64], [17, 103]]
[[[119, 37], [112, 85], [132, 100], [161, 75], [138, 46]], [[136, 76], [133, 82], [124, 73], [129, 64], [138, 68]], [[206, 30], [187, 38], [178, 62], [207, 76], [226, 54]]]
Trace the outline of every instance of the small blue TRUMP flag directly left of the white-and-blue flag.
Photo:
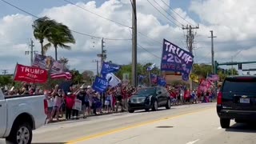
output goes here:
[[109, 86], [109, 82], [107, 82], [105, 78], [101, 78], [97, 76], [94, 80], [92, 88], [95, 91], [102, 93], [107, 90], [108, 86]]

